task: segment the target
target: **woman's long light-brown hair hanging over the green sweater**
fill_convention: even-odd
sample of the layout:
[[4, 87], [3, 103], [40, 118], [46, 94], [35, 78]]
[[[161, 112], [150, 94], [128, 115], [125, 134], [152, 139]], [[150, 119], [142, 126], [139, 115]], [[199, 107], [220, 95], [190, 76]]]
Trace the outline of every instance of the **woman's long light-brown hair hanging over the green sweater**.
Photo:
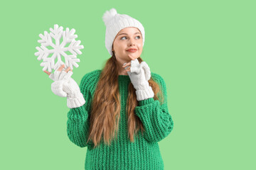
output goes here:
[[[137, 58], [139, 63], [143, 62], [142, 58]], [[90, 112], [90, 128], [88, 140], [92, 140], [95, 147], [100, 145], [100, 140], [104, 137], [104, 142], [110, 145], [114, 140], [114, 135], [117, 137], [120, 118], [120, 96], [118, 84], [118, 67], [117, 60], [114, 56], [107, 60], [105, 67], [102, 69], [100, 79], [97, 82], [95, 94], [92, 99]], [[162, 94], [159, 85], [152, 79], [149, 79], [149, 86], [154, 91], [154, 100], [159, 100], [158, 93]], [[161, 102], [163, 101], [162, 95]], [[127, 125], [128, 135], [131, 142], [134, 142], [134, 133], [144, 131], [142, 121], [134, 114], [134, 108], [138, 106], [137, 96], [132, 82], [128, 86], [127, 98]]]

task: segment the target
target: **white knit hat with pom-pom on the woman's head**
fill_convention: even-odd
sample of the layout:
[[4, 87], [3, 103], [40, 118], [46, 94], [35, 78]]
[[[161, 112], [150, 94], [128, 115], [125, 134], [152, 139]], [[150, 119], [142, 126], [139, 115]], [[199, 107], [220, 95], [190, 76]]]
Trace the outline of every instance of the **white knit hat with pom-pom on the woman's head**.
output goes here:
[[143, 46], [145, 41], [145, 31], [142, 23], [137, 21], [137, 19], [132, 18], [131, 16], [127, 16], [126, 14], [119, 14], [115, 8], [111, 8], [110, 11], [105, 11], [102, 17], [105, 26], [106, 26], [106, 34], [105, 34], [105, 46], [107, 51], [112, 56], [112, 44], [114, 42], [114, 38], [119, 33], [120, 30], [127, 27], [135, 27], [140, 30], [142, 33]]

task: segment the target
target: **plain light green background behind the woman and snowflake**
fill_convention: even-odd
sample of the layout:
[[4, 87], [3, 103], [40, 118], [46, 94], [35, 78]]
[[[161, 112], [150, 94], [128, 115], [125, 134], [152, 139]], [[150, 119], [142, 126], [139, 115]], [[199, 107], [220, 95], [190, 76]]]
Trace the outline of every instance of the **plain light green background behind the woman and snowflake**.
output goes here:
[[0, 169], [84, 169], [68, 139], [66, 98], [34, 55], [39, 34], [75, 28], [84, 49], [73, 79], [110, 57], [110, 8], [145, 28], [142, 59], [166, 81], [174, 130], [165, 169], [256, 169], [255, 1], [1, 1]]

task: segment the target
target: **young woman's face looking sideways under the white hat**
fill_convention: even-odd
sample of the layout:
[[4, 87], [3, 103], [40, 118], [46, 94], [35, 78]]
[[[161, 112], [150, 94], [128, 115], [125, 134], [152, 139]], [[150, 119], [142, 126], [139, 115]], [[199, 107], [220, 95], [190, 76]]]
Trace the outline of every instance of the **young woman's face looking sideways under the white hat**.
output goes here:
[[[131, 61], [128, 55], [132, 55], [135, 59], [142, 54], [143, 39], [142, 33], [138, 28], [128, 27], [124, 28], [117, 33], [114, 38], [112, 51], [119, 61]], [[136, 51], [127, 51], [130, 48], [136, 49]]]

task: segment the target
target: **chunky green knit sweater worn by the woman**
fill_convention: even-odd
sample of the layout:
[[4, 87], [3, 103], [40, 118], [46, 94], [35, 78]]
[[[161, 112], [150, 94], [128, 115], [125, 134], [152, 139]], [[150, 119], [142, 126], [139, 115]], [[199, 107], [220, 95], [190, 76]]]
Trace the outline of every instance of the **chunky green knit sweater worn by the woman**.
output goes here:
[[131, 82], [128, 75], [119, 75], [120, 119], [118, 139], [110, 146], [100, 142], [100, 146], [93, 149], [93, 142], [87, 142], [89, 131], [90, 104], [95, 92], [101, 69], [89, 72], [82, 77], [80, 90], [85, 98], [85, 105], [70, 108], [68, 112], [67, 131], [71, 142], [79, 147], [87, 147], [86, 170], [122, 170], [122, 169], [164, 169], [158, 142], [163, 140], [174, 127], [174, 122], [167, 107], [166, 84], [159, 75], [151, 72], [151, 77], [159, 84], [164, 93], [164, 103], [154, 98], [139, 101], [134, 113], [142, 120], [144, 133], [138, 131], [134, 135], [134, 142], [130, 142], [127, 131], [126, 101], [128, 85]]

